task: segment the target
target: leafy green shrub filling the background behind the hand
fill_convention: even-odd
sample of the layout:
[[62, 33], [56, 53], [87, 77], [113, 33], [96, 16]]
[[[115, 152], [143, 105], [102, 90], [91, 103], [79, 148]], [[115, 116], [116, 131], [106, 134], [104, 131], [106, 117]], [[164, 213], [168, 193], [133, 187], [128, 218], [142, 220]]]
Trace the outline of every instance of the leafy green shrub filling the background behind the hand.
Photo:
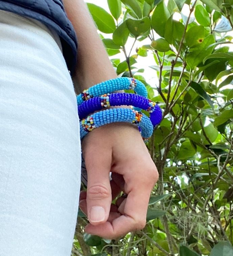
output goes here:
[[[143, 231], [104, 240], [83, 235], [87, 220], [80, 216], [72, 253], [233, 255], [233, 52], [227, 33], [233, 28], [233, 0], [107, 3], [110, 13], [88, 7], [99, 31], [108, 33], [100, 36], [112, 65], [119, 76], [145, 83], [149, 98], [163, 109], [147, 143], [160, 179]], [[124, 60], [114, 58], [119, 52]], [[151, 55], [155, 84], [136, 67]]]

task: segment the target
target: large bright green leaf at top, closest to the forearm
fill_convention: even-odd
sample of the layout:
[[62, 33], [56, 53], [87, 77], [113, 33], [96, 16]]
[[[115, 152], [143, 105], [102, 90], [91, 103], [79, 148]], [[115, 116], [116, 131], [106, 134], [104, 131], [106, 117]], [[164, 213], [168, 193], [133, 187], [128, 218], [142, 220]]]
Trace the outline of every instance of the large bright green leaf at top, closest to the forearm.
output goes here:
[[116, 25], [112, 16], [107, 13], [105, 9], [93, 3], [87, 3], [87, 6], [99, 31], [106, 34], [113, 33], [113, 31], [116, 29]]

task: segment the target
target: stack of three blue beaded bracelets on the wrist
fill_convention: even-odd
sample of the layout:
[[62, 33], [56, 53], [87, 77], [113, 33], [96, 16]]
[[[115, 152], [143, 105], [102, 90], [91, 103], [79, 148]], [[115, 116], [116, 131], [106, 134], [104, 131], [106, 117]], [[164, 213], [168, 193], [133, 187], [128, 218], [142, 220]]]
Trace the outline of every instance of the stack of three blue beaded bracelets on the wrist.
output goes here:
[[[114, 93], [120, 90], [133, 90], [133, 93]], [[145, 85], [128, 77], [110, 79], [96, 84], [77, 95], [78, 115], [80, 118], [81, 139], [90, 131], [113, 122], [130, 122], [136, 124], [144, 140], [151, 137], [154, 127], [161, 122], [160, 107], [147, 98]], [[128, 108], [106, 109], [110, 106], [128, 105]], [[150, 113], [150, 117], [141, 113], [141, 109]]]

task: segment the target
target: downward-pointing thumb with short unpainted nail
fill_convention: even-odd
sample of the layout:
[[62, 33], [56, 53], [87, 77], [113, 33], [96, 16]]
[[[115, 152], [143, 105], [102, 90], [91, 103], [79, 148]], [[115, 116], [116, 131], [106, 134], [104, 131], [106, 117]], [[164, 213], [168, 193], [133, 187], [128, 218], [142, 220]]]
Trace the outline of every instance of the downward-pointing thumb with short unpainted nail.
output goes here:
[[112, 161], [111, 149], [90, 146], [85, 149], [87, 170], [87, 217], [91, 224], [107, 221], [112, 201], [109, 172]]

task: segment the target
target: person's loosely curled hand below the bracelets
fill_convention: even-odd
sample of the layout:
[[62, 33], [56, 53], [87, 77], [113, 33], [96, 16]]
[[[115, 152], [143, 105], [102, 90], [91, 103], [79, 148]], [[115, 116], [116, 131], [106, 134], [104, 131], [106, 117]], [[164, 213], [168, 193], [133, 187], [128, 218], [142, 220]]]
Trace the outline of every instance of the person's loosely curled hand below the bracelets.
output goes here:
[[[79, 206], [90, 222], [85, 231], [115, 239], [143, 229], [158, 172], [137, 127], [123, 122], [99, 127], [84, 137], [82, 153], [88, 181]], [[121, 191], [128, 197], [111, 204]]]

